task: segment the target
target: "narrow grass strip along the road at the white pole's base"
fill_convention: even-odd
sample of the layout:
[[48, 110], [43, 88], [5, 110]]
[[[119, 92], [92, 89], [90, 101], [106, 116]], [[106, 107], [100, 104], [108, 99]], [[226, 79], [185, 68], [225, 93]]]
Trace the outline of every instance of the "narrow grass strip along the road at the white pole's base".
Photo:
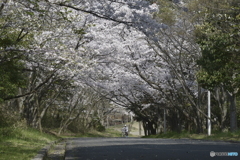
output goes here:
[[207, 134], [193, 134], [189, 132], [167, 132], [166, 134], [157, 134], [144, 136], [143, 138], [170, 138], [170, 139], [206, 139], [206, 140], [222, 140], [222, 141], [240, 141], [240, 131], [237, 132], [213, 132], [211, 136]]

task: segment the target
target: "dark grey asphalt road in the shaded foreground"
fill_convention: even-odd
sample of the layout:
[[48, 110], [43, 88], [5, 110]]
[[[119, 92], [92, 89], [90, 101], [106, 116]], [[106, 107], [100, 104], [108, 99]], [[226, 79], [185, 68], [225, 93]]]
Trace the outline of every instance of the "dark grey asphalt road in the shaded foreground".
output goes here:
[[[210, 152], [214, 157], [210, 156]], [[236, 160], [240, 143], [189, 139], [75, 138], [65, 160]], [[224, 156], [225, 155], [225, 156]]]

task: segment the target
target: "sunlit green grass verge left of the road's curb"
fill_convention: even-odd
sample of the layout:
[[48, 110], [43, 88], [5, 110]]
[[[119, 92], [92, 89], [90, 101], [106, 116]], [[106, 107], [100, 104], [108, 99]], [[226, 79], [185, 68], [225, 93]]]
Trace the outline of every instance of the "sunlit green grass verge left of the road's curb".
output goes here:
[[30, 160], [57, 139], [34, 129], [0, 128], [0, 160]]

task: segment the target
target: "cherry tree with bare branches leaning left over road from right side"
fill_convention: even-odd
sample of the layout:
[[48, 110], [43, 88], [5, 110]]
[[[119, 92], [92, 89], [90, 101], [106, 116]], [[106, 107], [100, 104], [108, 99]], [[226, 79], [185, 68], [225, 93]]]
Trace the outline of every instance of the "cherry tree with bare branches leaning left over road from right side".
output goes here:
[[[193, 26], [190, 28], [190, 23], [181, 21], [176, 26], [166, 26], [154, 20], [147, 21], [146, 15], [138, 16], [139, 21], [134, 21], [131, 25], [109, 22], [109, 19], [98, 21], [89, 34], [86, 34], [92, 38], [86, 46], [94, 53], [93, 57], [97, 61], [94, 73], [88, 71], [90, 73], [88, 83], [94, 79], [97, 81], [96, 86], [106, 87], [105, 91], [111, 93], [117, 102], [124, 106], [129, 105], [129, 102], [140, 104], [142, 100], [138, 99], [144, 97], [142, 95], [147, 92], [146, 87], [144, 89], [142, 87], [147, 86], [154, 91], [149, 93], [156, 92], [155, 95], [150, 94], [151, 97], [161, 95], [155, 102], [168, 102], [168, 106], [177, 108], [188, 118], [193, 118], [201, 130], [200, 114], [204, 113], [198, 106], [196, 95], [198, 88], [194, 77], [196, 71], [194, 59], [198, 55], [193, 54], [199, 53], [199, 50], [191, 43], [190, 34], [186, 36], [180, 34], [183, 28], [191, 32]], [[148, 16], [150, 19], [151, 14]], [[144, 26], [150, 22], [152, 25]], [[105, 35], [106, 32], [108, 37]], [[137, 85], [141, 89], [136, 90], [136, 84], [141, 84]], [[176, 105], [179, 101], [182, 107]], [[190, 107], [184, 107], [188, 102]], [[190, 116], [189, 112], [195, 114]], [[197, 118], [194, 118], [196, 114]]]

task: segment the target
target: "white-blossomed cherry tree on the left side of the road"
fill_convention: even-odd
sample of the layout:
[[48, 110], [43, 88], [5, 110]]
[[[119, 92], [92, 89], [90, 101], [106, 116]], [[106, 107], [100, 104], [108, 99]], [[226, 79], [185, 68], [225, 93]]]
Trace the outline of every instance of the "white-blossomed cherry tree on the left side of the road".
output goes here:
[[[81, 7], [84, 6], [83, 3], [79, 4], [75, 1], [69, 4], [63, 3], [63, 1], [9, 0], [2, 4], [4, 6], [4, 9], [1, 7], [3, 15], [10, 13], [14, 15], [12, 18], [14, 23], [9, 23], [10, 26], [19, 30], [23, 35], [31, 35], [31, 39], [24, 39], [29, 42], [28, 46], [21, 48], [26, 56], [26, 59], [24, 59], [25, 73], [28, 73], [29, 85], [20, 89], [18, 95], [5, 98], [5, 100], [17, 98], [20, 111], [28, 115], [29, 124], [32, 123], [31, 121], [37, 123], [36, 115], [43, 117], [49, 107], [44, 100], [45, 98], [42, 97], [44, 96], [43, 93], [47, 93], [47, 90], [50, 89], [49, 86], [59, 81], [65, 83], [65, 81], [71, 80], [74, 80], [74, 85], [81, 85], [80, 82], [83, 80], [81, 76], [89, 68], [94, 69], [92, 66], [96, 65], [96, 59], [93, 57], [96, 55], [86, 54], [91, 53], [93, 49], [97, 51], [97, 48], [85, 49], [82, 48], [82, 44], [91, 41], [91, 36], [87, 34], [84, 36], [84, 30], [94, 25], [93, 21], [96, 17], [119, 24], [132, 23], [126, 21], [125, 17], [128, 15], [124, 14], [124, 8], [129, 10], [130, 4], [104, 1], [97, 3], [98, 7], [94, 8], [92, 6], [96, 5], [90, 5], [93, 3], [96, 2], [84, 2], [84, 10], [76, 8], [76, 6], [70, 6], [76, 4]], [[103, 7], [105, 4], [108, 4], [108, 6]], [[138, 4], [141, 3], [132, 3], [130, 7], [137, 11]], [[128, 7], [126, 8], [126, 6]], [[140, 5], [141, 13], [144, 6], [147, 6], [147, 3]], [[120, 10], [118, 7], [120, 7]], [[111, 10], [116, 14], [109, 14]], [[134, 18], [134, 16], [131, 18]], [[54, 95], [58, 94], [54, 93]], [[24, 107], [22, 107], [23, 104], [25, 104]], [[44, 104], [45, 107], [41, 104]], [[49, 102], [49, 104], [52, 104], [52, 102]], [[43, 109], [43, 114], [36, 114], [40, 113], [39, 106], [43, 107], [40, 107]], [[33, 124], [33, 126], [36, 125]]]

